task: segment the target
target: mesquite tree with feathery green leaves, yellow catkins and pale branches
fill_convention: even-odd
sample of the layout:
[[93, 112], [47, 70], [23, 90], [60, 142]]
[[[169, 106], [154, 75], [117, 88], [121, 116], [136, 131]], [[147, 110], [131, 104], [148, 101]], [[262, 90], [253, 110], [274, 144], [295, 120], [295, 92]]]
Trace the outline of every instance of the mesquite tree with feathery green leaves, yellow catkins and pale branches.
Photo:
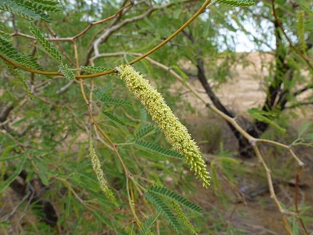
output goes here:
[[[22, 196], [3, 224], [15, 233], [210, 231], [203, 226], [203, 221], [212, 223], [201, 216], [206, 211], [187, 199], [194, 178], [209, 187], [209, 160], [174, 114], [185, 105], [169, 92], [175, 78], [227, 121], [242, 148], [254, 151], [286, 231], [291, 234], [287, 215], [306, 231], [304, 212], [285, 213], [276, 197], [257, 142], [279, 145], [304, 165], [292, 145], [258, 138], [268, 125], [280, 128], [273, 113], [289, 103], [301, 105], [294, 97], [312, 88], [312, 7], [302, 0], [254, 5], [251, 0], [0, 0], [0, 192], [10, 187]], [[296, 9], [297, 17], [288, 18], [282, 9]], [[245, 17], [272, 22], [276, 39], [267, 98], [261, 109], [249, 111], [255, 121], [248, 130], [207, 82], [213, 74], [217, 82], [226, 82], [231, 65], [244, 61], [236, 59], [227, 31], [221, 29], [235, 30], [236, 24], [248, 33]], [[225, 45], [227, 56], [221, 53]], [[221, 58], [223, 63], [217, 64]], [[212, 104], [188, 83], [191, 74], [179, 66], [186, 60], [195, 65]], [[154, 79], [161, 92], [142, 74]], [[310, 144], [309, 139], [299, 136], [294, 144]], [[213, 167], [212, 183], [219, 184]], [[44, 222], [29, 222], [23, 231], [11, 224], [23, 203]], [[292, 223], [293, 230], [296, 225]], [[216, 227], [230, 231], [229, 226]]]

